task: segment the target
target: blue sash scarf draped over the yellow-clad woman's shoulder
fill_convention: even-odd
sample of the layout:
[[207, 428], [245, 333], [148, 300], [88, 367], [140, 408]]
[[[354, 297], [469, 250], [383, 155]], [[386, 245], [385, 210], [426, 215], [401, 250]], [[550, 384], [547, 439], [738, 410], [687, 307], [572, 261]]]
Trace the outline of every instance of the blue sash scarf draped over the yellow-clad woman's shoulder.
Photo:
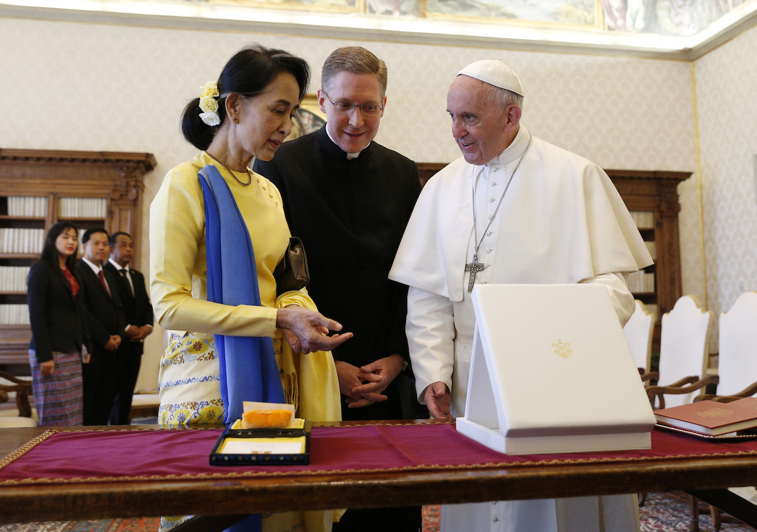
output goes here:
[[[205, 209], [207, 300], [224, 305], [260, 306], [250, 233], [232, 191], [215, 166], [199, 173]], [[225, 423], [241, 418], [242, 401], [286, 403], [270, 338], [216, 334]], [[251, 515], [228, 530], [260, 531], [262, 516]]]

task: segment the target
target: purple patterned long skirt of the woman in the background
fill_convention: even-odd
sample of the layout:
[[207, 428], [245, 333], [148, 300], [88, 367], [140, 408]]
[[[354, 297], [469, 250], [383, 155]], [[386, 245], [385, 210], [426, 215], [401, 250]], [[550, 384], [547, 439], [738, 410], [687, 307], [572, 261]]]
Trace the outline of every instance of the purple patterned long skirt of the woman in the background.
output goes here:
[[29, 350], [32, 391], [40, 427], [70, 427], [83, 422], [82, 356], [78, 351], [52, 353], [55, 371], [42, 377], [34, 350]]

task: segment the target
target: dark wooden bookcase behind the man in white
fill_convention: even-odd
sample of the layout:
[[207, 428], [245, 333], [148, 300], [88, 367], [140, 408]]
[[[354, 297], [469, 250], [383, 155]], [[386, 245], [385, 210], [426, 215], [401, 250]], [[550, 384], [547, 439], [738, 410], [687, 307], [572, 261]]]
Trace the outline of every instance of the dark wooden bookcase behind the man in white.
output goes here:
[[[421, 183], [431, 178], [445, 163], [418, 163]], [[634, 292], [645, 305], [655, 305], [657, 325], [653, 351], [659, 352], [662, 314], [669, 312], [681, 297], [681, 248], [678, 239], [678, 183], [689, 179], [690, 172], [605, 170], [631, 213], [650, 213], [652, 223], [640, 229], [645, 241], [654, 242], [656, 259], [646, 273], [655, 275], [654, 290]]]

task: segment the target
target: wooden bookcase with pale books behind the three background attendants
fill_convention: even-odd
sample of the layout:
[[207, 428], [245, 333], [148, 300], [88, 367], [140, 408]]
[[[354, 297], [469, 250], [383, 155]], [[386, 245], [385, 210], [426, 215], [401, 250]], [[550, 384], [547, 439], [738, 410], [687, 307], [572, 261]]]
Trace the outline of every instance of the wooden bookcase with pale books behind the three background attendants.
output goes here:
[[152, 154], [0, 149], [0, 369], [28, 374], [26, 277], [50, 227], [70, 220], [79, 239], [93, 228], [139, 233], [154, 166]]

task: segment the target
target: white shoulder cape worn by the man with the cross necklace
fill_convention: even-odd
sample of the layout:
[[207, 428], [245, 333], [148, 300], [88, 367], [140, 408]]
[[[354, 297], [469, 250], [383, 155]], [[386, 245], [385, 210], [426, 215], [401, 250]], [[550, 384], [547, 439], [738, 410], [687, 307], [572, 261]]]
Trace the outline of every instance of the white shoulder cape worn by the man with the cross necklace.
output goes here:
[[[508, 177], [515, 164], [503, 166]], [[472, 179], [478, 170], [460, 157], [426, 183], [389, 278], [463, 300], [473, 233]], [[497, 254], [493, 282], [575, 283], [653, 263], [604, 170], [538, 138], [497, 217], [499, 245], [506, 253]]]

